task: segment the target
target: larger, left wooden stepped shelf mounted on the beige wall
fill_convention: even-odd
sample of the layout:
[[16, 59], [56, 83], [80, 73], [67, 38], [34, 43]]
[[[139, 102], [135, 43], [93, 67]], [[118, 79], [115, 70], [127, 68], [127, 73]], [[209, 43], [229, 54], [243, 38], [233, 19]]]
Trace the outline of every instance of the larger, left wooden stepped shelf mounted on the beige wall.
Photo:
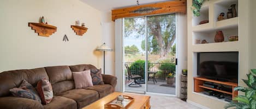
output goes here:
[[57, 31], [57, 27], [49, 24], [29, 22], [28, 26], [35, 30], [35, 33], [38, 33], [39, 36], [49, 37]]

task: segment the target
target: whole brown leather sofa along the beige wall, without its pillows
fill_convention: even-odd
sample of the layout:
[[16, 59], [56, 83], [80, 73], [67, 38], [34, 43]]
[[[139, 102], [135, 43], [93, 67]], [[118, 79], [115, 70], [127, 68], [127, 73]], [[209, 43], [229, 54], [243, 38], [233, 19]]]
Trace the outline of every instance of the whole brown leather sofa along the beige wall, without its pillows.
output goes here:
[[[103, 75], [104, 85], [75, 89], [72, 72], [95, 69], [92, 65], [53, 66], [35, 69], [10, 70], [0, 73], [0, 108], [6, 109], [76, 109], [114, 92], [117, 78]], [[19, 87], [23, 79], [34, 87], [40, 79], [49, 79], [53, 88], [53, 99], [47, 105], [12, 97], [9, 89]]]

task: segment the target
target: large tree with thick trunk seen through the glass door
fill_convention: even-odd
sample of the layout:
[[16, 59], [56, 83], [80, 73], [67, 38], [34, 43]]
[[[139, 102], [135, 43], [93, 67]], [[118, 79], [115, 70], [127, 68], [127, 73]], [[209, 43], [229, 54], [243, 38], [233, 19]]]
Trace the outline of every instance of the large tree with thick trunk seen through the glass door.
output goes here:
[[[126, 18], [124, 36], [138, 38], [145, 35], [145, 18]], [[175, 41], [175, 14], [147, 17], [148, 42], [151, 42], [152, 53], [159, 53], [164, 59]], [[144, 47], [145, 49], [145, 47]]]

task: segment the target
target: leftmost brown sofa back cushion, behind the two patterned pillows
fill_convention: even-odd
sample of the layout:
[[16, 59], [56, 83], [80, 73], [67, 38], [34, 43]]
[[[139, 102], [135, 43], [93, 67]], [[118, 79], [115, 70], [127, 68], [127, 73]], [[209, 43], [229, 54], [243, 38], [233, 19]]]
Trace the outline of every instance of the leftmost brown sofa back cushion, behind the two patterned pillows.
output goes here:
[[10, 95], [9, 89], [19, 87], [26, 80], [33, 87], [41, 79], [49, 79], [44, 68], [10, 70], [0, 73], [0, 97]]

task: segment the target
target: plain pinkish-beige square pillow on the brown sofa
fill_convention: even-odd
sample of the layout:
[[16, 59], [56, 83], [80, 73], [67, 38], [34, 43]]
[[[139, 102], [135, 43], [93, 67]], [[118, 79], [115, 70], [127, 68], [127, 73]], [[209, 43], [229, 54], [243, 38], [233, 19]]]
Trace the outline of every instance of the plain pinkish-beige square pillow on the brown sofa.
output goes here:
[[75, 88], [85, 88], [93, 86], [90, 70], [85, 70], [82, 72], [72, 72], [72, 74], [75, 81]]

